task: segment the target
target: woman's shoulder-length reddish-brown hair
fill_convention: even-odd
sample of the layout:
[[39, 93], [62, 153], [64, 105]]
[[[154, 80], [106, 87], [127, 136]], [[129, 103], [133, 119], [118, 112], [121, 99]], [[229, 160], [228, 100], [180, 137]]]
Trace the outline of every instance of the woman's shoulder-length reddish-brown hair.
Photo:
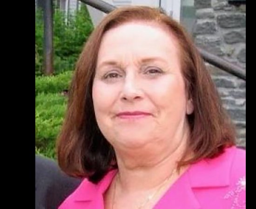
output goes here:
[[57, 140], [59, 165], [71, 176], [88, 177], [89, 181], [97, 183], [108, 170], [117, 167], [115, 151], [95, 119], [92, 85], [102, 36], [111, 28], [131, 21], [167, 27], [180, 47], [182, 75], [194, 104], [194, 112], [188, 116], [190, 136], [185, 153], [193, 151], [194, 155], [186, 160], [184, 156], [179, 166], [216, 157], [225, 147], [235, 144], [234, 127], [189, 34], [159, 9], [121, 7], [109, 13], [94, 29], [76, 65], [67, 113]]

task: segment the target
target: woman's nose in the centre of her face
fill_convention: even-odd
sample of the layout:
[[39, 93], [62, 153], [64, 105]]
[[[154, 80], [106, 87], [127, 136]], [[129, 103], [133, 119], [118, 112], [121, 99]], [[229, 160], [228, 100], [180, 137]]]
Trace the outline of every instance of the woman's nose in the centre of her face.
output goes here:
[[133, 102], [142, 99], [143, 92], [139, 80], [135, 75], [128, 75], [123, 84], [121, 92], [121, 100]]

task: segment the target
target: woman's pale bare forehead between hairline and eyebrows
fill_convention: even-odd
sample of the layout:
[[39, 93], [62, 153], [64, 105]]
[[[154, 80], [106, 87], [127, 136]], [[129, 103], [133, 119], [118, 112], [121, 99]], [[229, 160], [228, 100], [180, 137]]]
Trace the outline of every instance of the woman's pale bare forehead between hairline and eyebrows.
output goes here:
[[167, 26], [152, 22], [128, 22], [108, 30], [102, 37], [99, 58], [115, 53], [135, 52], [141, 56], [172, 56], [178, 41]]

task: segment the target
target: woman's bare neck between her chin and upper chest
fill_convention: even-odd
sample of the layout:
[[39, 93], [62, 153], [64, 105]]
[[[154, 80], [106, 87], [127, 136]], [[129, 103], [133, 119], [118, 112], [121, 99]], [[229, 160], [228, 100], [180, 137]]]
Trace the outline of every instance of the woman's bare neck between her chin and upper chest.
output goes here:
[[[119, 187], [124, 193], [135, 191], [145, 191], [155, 189], [161, 183], [168, 179], [172, 171], [170, 181], [175, 180], [181, 175], [176, 172], [177, 162], [181, 159], [187, 144], [187, 134], [175, 146], [147, 146], [143, 150], [129, 150], [127, 152], [118, 152], [116, 157], [119, 170]], [[153, 149], [152, 149], [153, 148]], [[149, 151], [150, 150], [150, 151]], [[143, 155], [142, 155], [143, 153]]]

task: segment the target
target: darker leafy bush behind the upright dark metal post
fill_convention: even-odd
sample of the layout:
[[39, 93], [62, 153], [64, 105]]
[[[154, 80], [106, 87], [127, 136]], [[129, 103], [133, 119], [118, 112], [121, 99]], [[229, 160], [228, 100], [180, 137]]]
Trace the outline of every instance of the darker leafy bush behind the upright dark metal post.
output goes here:
[[[54, 74], [73, 70], [82, 47], [93, 30], [88, 10], [81, 7], [73, 15], [65, 18], [65, 13], [54, 10], [53, 44], [54, 44]], [[42, 75], [43, 66], [43, 15], [41, 10], [35, 16], [36, 43], [36, 75]], [[67, 21], [66, 21], [67, 20]]]

